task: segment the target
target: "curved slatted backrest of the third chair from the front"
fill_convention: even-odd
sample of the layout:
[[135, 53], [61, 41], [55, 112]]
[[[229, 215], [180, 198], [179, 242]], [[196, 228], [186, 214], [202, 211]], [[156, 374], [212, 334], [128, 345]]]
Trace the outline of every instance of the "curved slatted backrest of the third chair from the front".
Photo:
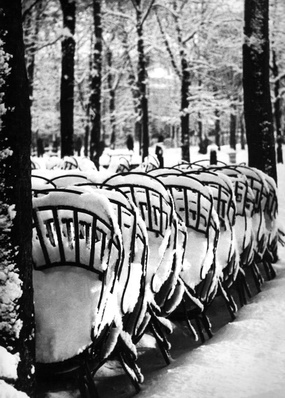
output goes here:
[[140, 210], [147, 231], [164, 237], [172, 224], [173, 204], [163, 184], [155, 177], [144, 173], [123, 173], [104, 181], [123, 191]]

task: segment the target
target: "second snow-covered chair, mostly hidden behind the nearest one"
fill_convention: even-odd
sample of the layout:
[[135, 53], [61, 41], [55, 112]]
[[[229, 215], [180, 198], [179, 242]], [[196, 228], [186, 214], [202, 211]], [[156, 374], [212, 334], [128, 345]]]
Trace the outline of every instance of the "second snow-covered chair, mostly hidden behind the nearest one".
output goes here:
[[[118, 307], [122, 318], [123, 330], [119, 331], [116, 355], [137, 391], [143, 377], [134, 363], [137, 353], [132, 342], [140, 339], [138, 330], [147, 310], [145, 303], [145, 273], [147, 259], [147, 231], [136, 207], [128, 198], [114, 187], [97, 189], [94, 185], [68, 187], [81, 192], [104, 195], [112, 205], [122, 233], [124, 262], [118, 274]], [[109, 189], [108, 189], [109, 188]], [[128, 345], [129, 350], [125, 347]], [[131, 368], [131, 370], [129, 369]], [[97, 369], [96, 369], [97, 370]]]

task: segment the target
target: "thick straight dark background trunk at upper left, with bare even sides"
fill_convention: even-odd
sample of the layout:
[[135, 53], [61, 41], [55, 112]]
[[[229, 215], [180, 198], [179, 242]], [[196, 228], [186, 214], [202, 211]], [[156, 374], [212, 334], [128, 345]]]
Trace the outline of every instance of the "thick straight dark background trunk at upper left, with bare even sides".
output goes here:
[[[63, 27], [71, 35], [75, 31], [75, 0], [60, 0]], [[73, 105], [74, 105], [74, 52], [75, 41], [72, 36], [65, 37], [61, 43], [62, 70], [60, 86], [60, 135], [61, 157], [73, 155]]]

